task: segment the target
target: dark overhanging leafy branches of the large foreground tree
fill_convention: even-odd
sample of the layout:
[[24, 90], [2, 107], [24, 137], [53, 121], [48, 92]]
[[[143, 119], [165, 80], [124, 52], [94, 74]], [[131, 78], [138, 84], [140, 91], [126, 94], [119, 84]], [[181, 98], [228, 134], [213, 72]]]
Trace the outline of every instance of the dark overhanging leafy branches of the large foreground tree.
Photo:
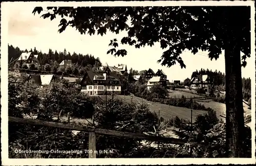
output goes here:
[[[186, 67], [181, 52], [184, 49], [197, 53], [198, 50], [208, 50], [210, 59], [218, 59], [225, 48], [228, 33], [237, 35], [240, 50], [245, 59], [250, 57], [250, 9], [249, 7], [48, 7], [50, 12], [41, 17], [60, 20], [59, 32], [67, 26], [75, 27], [81, 34], [103, 36], [107, 30], [118, 34], [127, 31], [128, 35], [121, 39], [122, 44], [140, 48], [153, 46], [160, 42], [163, 52], [162, 65], [172, 66], [178, 62], [181, 68]], [[36, 7], [33, 13], [40, 13], [41, 7]], [[238, 12], [240, 11], [240, 12]], [[243, 19], [240, 14], [243, 14]], [[237, 17], [238, 16], [238, 17]], [[68, 20], [68, 17], [73, 19]], [[97, 18], [95, 20], [95, 18]], [[127, 21], [132, 23], [127, 25]], [[239, 22], [239, 24], [237, 24]], [[109, 52], [115, 56], [125, 56], [123, 49], [116, 50], [117, 40], [111, 41], [114, 48]], [[172, 55], [172, 56], [170, 56]]]

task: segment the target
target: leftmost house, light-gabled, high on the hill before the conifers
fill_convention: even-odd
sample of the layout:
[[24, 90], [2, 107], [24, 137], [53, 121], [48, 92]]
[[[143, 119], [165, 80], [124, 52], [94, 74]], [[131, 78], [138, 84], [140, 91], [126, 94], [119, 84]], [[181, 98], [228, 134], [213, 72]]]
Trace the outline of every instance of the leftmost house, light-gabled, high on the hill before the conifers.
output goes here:
[[23, 52], [17, 62], [26, 64], [28, 67], [30, 67], [30, 64], [34, 64], [35, 67], [39, 66], [39, 61], [37, 59], [38, 55], [34, 55], [32, 52]]

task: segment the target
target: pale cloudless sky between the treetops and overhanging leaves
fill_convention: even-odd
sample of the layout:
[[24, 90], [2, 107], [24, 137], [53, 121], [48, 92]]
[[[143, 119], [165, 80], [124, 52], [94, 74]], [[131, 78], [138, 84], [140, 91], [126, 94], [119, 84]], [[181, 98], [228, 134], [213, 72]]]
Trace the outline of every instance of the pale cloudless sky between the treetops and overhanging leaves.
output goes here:
[[[207, 57], [208, 52], [199, 51], [193, 54], [189, 51], [184, 51], [181, 54], [186, 68], [181, 69], [177, 63], [172, 67], [161, 66], [157, 63], [162, 56], [163, 49], [160, 44], [155, 46], [145, 46], [143, 48], [135, 48], [129, 45], [119, 45], [119, 49], [126, 49], [127, 56], [114, 57], [106, 52], [111, 49], [109, 47], [110, 40], [120, 39], [126, 36], [127, 32], [120, 34], [113, 34], [107, 32], [106, 35], [81, 35], [75, 28], [67, 27], [61, 34], [58, 33], [58, 24], [60, 17], [50, 21], [50, 19], [40, 18], [41, 14], [47, 13], [42, 11], [40, 15], [32, 14], [35, 5], [30, 3], [23, 3], [17, 5], [13, 3], [10, 5], [8, 17], [8, 43], [20, 49], [28, 49], [36, 47], [37, 50], [48, 52], [49, 48], [52, 50], [67, 51], [73, 53], [92, 54], [95, 58], [99, 57], [102, 64], [108, 63], [109, 66], [117, 66], [117, 64], [126, 64], [127, 69], [133, 68], [135, 70], [148, 70], [149, 68], [157, 72], [162, 69], [170, 81], [181, 80], [191, 77], [191, 73], [196, 70], [209, 69], [212, 71], [218, 70], [225, 72], [224, 54], [216, 61], [210, 60]], [[46, 10], [46, 8], [45, 8]], [[252, 77], [254, 68], [254, 60], [247, 59], [247, 66], [242, 68], [242, 77]]]

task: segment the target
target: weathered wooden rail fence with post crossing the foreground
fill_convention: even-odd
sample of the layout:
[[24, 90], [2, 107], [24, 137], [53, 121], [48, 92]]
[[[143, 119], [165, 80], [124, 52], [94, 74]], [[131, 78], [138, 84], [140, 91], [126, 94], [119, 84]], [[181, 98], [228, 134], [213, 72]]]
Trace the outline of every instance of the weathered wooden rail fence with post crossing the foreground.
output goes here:
[[15, 118], [15, 117], [8, 117], [8, 119], [9, 119], [9, 122], [13, 122], [13, 123], [23, 123], [23, 124], [30, 124], [30, 125], [36, 125], [36, 126], [46, 126], [46, 127], [60, 128], [60, 129], [66, 129], [66, 130], [77, 130], [77, 131], [89, 132], [89, 150], [93, 152], [93, 153], [89, 153], [89, 158], [96, 158], [96, 133], [118, 136], [118, 137], [128, 137], [132, 139], [162, 142], [162, 143], [168, 143], [168, 144], [176, 144], [176, 145], [182, 145], [186, 143], [186, 141], [184, 140], [175, 139], [173, 137], [152, 136], [152, 135], [146, 135], [146, 134], [140, 134], [140, 133], [131, 133], [131, 132], [108, 130], [108, 129], [98, 129], [98, 128], [92, 128], [87, 126], [76, 126], [76, 125], [71, 125], [66, 123], [47, 122], [47, 121], [22, 119], [22, 118]]

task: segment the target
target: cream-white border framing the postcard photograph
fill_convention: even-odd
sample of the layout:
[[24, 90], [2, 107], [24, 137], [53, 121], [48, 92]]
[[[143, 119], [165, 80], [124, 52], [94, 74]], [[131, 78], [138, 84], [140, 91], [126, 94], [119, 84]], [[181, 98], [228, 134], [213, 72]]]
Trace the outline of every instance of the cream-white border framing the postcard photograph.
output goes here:
[[[8, 5], [29, 3], [35, 6], [250, 6], [251, 7], [251, 58], [255, 61], [254, 1], [157, 1], [157, 2], [3, 2], [1, 4], [1, 144], [3, 165], [96, 165], [96, 164], [249, 164], [255, 163], [255, 107], [251, 109], [252, 158], [110, 158], [110, 159], [9, 159], [8, 158]], [[31, 9], [33, 10], [33, 9]], [[31, 11], [32, 12], [32, 11]], [[31, 13], [32, 14], [32, 13]], [[255, 67], [251, 70], [251, 104], [255, 105]]]

